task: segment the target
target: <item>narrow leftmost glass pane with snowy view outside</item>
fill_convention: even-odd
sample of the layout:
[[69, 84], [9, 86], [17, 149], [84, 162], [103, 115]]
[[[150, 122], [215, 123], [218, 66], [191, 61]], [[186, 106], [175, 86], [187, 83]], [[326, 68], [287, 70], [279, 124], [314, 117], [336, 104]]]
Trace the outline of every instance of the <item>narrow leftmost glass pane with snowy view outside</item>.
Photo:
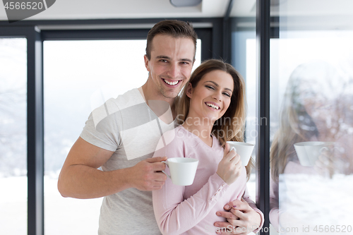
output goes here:
[[27, 40], [0, 38], [0, 228], [27, 234]]

